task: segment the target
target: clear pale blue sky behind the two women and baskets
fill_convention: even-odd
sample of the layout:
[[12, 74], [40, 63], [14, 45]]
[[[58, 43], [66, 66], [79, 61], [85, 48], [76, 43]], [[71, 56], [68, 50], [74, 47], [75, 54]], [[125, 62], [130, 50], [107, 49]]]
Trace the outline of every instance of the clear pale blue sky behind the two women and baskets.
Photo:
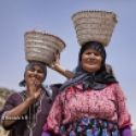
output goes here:
[[[0, 87], [22, 90], [26, 65], [24, 33], [45, 30], [62, 38], [66, 48], [61, 63], [73, 70], [77, 64], [79, 46], [71, 20], [82, 10], [107, 10], [118, 14], [118, 24], [107, 47], [107, 62], [113, 66], [126, 98], [136, 127], [136, 1], [135, 0], [0, 0]], [[45, 84], [63, 83], [65, 78], [48, 70]]]

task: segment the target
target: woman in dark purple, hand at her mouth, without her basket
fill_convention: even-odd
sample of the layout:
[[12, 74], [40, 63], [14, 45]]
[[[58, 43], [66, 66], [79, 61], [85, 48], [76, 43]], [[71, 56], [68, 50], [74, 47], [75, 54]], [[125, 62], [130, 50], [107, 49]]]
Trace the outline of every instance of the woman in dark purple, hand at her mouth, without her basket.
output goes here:
[[40, 136], [45, 116], [48, 115], [60, 85], [51, 86], [52, 97], [44, 88], [47, 66], [42, 62], [29, 62], [21, 86], [25, 90], [12, 94], [0, 111], [1, 125], [9, 136]]

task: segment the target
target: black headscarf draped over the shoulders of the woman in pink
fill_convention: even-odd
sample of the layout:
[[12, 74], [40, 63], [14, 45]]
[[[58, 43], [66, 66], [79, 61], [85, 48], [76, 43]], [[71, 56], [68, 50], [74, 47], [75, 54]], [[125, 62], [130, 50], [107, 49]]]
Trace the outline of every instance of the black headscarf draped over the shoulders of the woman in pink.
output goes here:
[[[86, 72], [82, 67], [82, 55], [87, 49], [95, 49], [100, 52], [102, 57], [101, 67], [97, 72]], [[82, 46], [79, 54], [78, 54], [78, 65], [75, 70], [74, 78], [65, 82], [60, 90], [65, 89], [66, 87], [76, 85], [82, 83], [83, 88], [86, 90], [87, 88], [91, 88], [95, 90], [101, 90], [106, 88], [107, 85], [112, 83], [118, 83], [112, 73], [108, 73], [106, 70], [106, 58], [107, 53], [104, 47], [100, 42], [89, 41]]]

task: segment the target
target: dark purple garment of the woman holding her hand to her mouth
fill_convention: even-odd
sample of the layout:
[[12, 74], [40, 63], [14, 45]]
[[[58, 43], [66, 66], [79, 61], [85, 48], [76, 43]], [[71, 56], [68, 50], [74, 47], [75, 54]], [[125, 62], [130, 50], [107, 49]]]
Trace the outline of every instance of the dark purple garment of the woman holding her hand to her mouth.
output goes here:
[[[25, 115], [27, 115], [27, 119], [20, 118], [14, 124], [10, 125], [9, 127], [3, 126], [5, 131], [10, 131], [9, 136], [29, 136], [29, 135], [30, 136], [41, 136], [42, 126], [49, 114], [53, 99], [59, 92], [59, 90], [55, 86], [51, 86], [51, 89], [53, 90], [52, 98], [47, 96], [47, 92], [45, 90], [38, 104], [36, 104], [37, 106], [36, 112], [33, 112], [29, 115], [25, 114]], [[24, 91], [22, 91], [22, 92], [24, 92]], [[8, 110], [15, 108], [16, 106], [18, 106], [23, 102], [24, 98], [22, 96], [22, 92], [14, 92], [7, 99], [3, 108], [0, 110], [0, 121], [1, 122], [4, 118], [4, 113]], [[36, 107], [34, 107], [34, 108], [36, 108]], [[36, 116], [36, 118], [32, 123], [29, 123], [29, 120], [32, 116]], [[32, 133], [29, 133], [29, 132], [32, 132]], [[47, 135], [47, 136], [49, 136], [49, 135]]]

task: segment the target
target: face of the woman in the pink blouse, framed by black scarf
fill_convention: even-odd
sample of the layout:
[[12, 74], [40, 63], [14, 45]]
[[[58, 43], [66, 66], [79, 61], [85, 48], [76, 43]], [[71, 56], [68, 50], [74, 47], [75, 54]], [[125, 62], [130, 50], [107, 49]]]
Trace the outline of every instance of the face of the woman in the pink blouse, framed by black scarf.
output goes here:
[[102, 62], [101, 54], [95, 49], [87, 49], [82, 54], [82, 67], [86, 72], [97, 72]]

